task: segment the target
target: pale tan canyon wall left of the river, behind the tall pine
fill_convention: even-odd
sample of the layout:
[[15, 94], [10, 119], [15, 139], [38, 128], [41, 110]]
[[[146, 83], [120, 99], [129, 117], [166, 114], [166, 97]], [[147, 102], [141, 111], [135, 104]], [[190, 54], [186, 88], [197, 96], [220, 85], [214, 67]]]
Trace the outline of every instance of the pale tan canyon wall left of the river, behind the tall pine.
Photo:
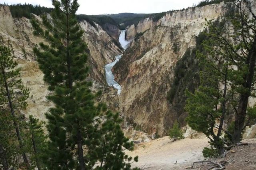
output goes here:
[[[35, 17], [40, 20], [39, 16]], [[122, 49], [115, 45], [114, 40], [97, 24], [98, 29], [85, 21], [81, 22], [80, 26], [84, 30], [83, 39], [90, 50], [88, 59], [91, 68], [90, 77], [100, 84], [100, 88], [104, 88], [104, 65], [114, 61], [114, 56], [122, 53]], [[44, 75], [32, 51], [32, 48], [43, 40], [32, 33], [33, 28], [27, 18], [12, 18], [9, 7], [0, 6], [0, 43], [8, 46], [8, 39], [10, 40], [15, 59], [22, 68], [22, 81], [33, 95], [28, 99], [28, 108], [24, 113], [26, 116], [31, 114], [44, 120], [44, 113], [52, 103], [46, 100], [46, 95], [49, 94], [48, 86], [43, 81]], [[22, 48], [25, 53], [22, 52]]]

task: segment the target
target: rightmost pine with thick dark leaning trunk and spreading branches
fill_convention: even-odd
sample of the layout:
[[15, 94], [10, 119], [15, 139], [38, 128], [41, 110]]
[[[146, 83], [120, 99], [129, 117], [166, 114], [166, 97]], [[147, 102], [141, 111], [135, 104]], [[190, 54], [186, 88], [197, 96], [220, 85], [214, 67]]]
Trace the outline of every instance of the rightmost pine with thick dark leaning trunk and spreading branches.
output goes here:
[[[256, 63], [256, 15], [252, 12], [252, 4], [248, 0], [238, 0], [228, 6], [228, 22], [231, 28], [225, 32], [208, 21], [212, 39], [218, 42], [214, 50], [222, 51], [228, 60], [231, 88], [238, 94], [238, 101], [233, 101], [235, 112], [234, 133], [232, 142], [241, 140], [245, 128], [249, 97], [253, 97]], [[227, 22], [227, 23], [228, 23]], [[229, 33], [232, 33], [230, 36]]]

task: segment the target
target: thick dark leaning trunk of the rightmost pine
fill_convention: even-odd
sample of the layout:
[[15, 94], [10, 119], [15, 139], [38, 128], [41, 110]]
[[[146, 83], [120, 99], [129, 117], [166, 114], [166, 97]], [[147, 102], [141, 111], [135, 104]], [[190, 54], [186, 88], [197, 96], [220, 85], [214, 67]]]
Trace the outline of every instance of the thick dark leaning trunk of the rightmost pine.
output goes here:
[[254, 67], [256, 63], [256, 37], [254, 38], [254, 42], [252, 44], [252, 51], [250, 51], [248, 57], [250, 57], [248, 62], [249, 70], [248, 70], [248, 74], [244, 77], [245, 83], [243, 85], [246, 92], [240, 95], [240, 100], [238, 103], [238, 111], [235, 116], [234, 133], [232, 136], [233, 144], [240, 142], [241, 136], [242, 136], [242, 130], [244, 127], [244, 120], [246, 117], [246, 110], [247, 110], [248, 100], [250, 97], [250, 89], [252, 87], [253, 78], [254, 78]]

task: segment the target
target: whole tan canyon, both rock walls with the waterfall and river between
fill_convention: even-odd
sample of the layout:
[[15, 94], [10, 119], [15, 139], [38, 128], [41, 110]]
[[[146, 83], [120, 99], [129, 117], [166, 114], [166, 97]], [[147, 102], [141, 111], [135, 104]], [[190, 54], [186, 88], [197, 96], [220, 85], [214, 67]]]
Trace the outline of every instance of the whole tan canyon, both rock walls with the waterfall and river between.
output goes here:
[[[128, 125], [149, 135], [166, 135], [175, 120], [185, 126], [186, 113], [178, 113], [175, 107], [179, 104], [166, 97], [176, 63], [196, 45], [205, 18], [216, 20], [225, 11], [224, 2], [170, 11], [158, 18], [144, 18], [126, 31], [109, 23], [93, 26], [81, 20], [83, 40], [90, 52], [92, 90], [102, 90], [100, 101], [120, 112]], [[40, 16], [34, 17], [40, 20]], [[11, 43], [22, 69], [22, 81], [33, 94], [24, 115], [45, 121], [44, 113], [52, 104], [46, 100], [49, 91], [32, 51], [43, 40], [33, 35], [28, 18], [13, 18], [8, 6], [0, 6], [0, 23], [0, 41], [9, 46]]]

